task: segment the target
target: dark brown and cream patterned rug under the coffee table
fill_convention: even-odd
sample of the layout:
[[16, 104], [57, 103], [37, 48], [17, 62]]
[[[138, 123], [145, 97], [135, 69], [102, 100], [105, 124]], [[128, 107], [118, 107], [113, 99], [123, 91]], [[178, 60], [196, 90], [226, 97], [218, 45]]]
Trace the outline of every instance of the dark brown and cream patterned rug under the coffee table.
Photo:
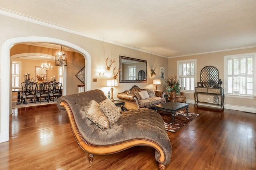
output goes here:
[[176, 111], [175, 117], [174, 117], [174, 123], [172, 123], [172, 113], [167, 111], [158, 111], [158, 113], [162, 116], [162, 119], [164, 120], [164, 126], [167, 131], [170, 132], [176, 132], [180, 130], [182, 127], [187, 125], [190, 121], [198, 117], [199, 114], [196, 113], [190, 113], [186, 111]]

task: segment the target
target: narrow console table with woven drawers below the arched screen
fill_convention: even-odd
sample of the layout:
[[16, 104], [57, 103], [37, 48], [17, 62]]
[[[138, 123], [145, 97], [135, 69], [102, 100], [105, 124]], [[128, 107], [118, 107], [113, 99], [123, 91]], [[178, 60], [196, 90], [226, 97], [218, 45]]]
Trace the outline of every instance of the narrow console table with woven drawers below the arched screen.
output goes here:
[[[198, 93], [201, 94], [208, 94], [208, 95], [218, 95], [221, 96], [221, 101], [219, 104], [217, 103], [210, 103], [210, 102], [200, 102], [198, 101]], [[220, 105], [221, 108], [224, 109], [224, 88], [202, 88], [202, 87], [196, 87], [196, 92], [194, 93], [195, 98], [195, 104], [198, 103], [205, 103], [205, 104], [214, 104], [214, 105]]]

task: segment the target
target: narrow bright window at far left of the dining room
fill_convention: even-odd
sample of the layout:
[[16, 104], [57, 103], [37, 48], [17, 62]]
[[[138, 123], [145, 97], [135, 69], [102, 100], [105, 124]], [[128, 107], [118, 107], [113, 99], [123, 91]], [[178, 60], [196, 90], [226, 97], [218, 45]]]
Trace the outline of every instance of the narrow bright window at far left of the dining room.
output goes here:
[[21, 83], [21, 62], [13, 61], [12, 62], [12, 88], [19, 88]]

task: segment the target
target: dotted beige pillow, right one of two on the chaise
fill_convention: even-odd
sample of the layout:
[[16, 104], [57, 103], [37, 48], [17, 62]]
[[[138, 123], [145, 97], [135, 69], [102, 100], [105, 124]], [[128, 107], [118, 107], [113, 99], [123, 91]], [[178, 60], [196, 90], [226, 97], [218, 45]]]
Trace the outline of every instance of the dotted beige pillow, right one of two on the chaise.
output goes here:
[[108, 102], [101, 104], [99, 108], [108, 118], [110, 125], [114, 125], [114, 123], [122, 116], [119, 111]]

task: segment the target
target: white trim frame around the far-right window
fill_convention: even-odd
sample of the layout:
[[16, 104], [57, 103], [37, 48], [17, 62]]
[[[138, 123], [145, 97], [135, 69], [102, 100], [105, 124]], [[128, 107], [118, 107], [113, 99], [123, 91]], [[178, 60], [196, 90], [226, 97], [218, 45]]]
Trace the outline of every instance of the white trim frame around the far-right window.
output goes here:
[[232, 57], [245, 57], [246, 55], [253, 55], [254, 59], [253, 59], [253, 95], [256, 96], [256, 53], [245, 53], [245, 54], [236, 54], [236, 55], [225, 55], [224, 56], [224, 94], [227, 96], [234, 96], [234, 97], [245, 97], [245, 98], [254, 98], [254, 96], [246, 96], [246, 95], [231, 95], [231, 94], [227, 94], [227, 59], [228, 58], [232, 58]]

